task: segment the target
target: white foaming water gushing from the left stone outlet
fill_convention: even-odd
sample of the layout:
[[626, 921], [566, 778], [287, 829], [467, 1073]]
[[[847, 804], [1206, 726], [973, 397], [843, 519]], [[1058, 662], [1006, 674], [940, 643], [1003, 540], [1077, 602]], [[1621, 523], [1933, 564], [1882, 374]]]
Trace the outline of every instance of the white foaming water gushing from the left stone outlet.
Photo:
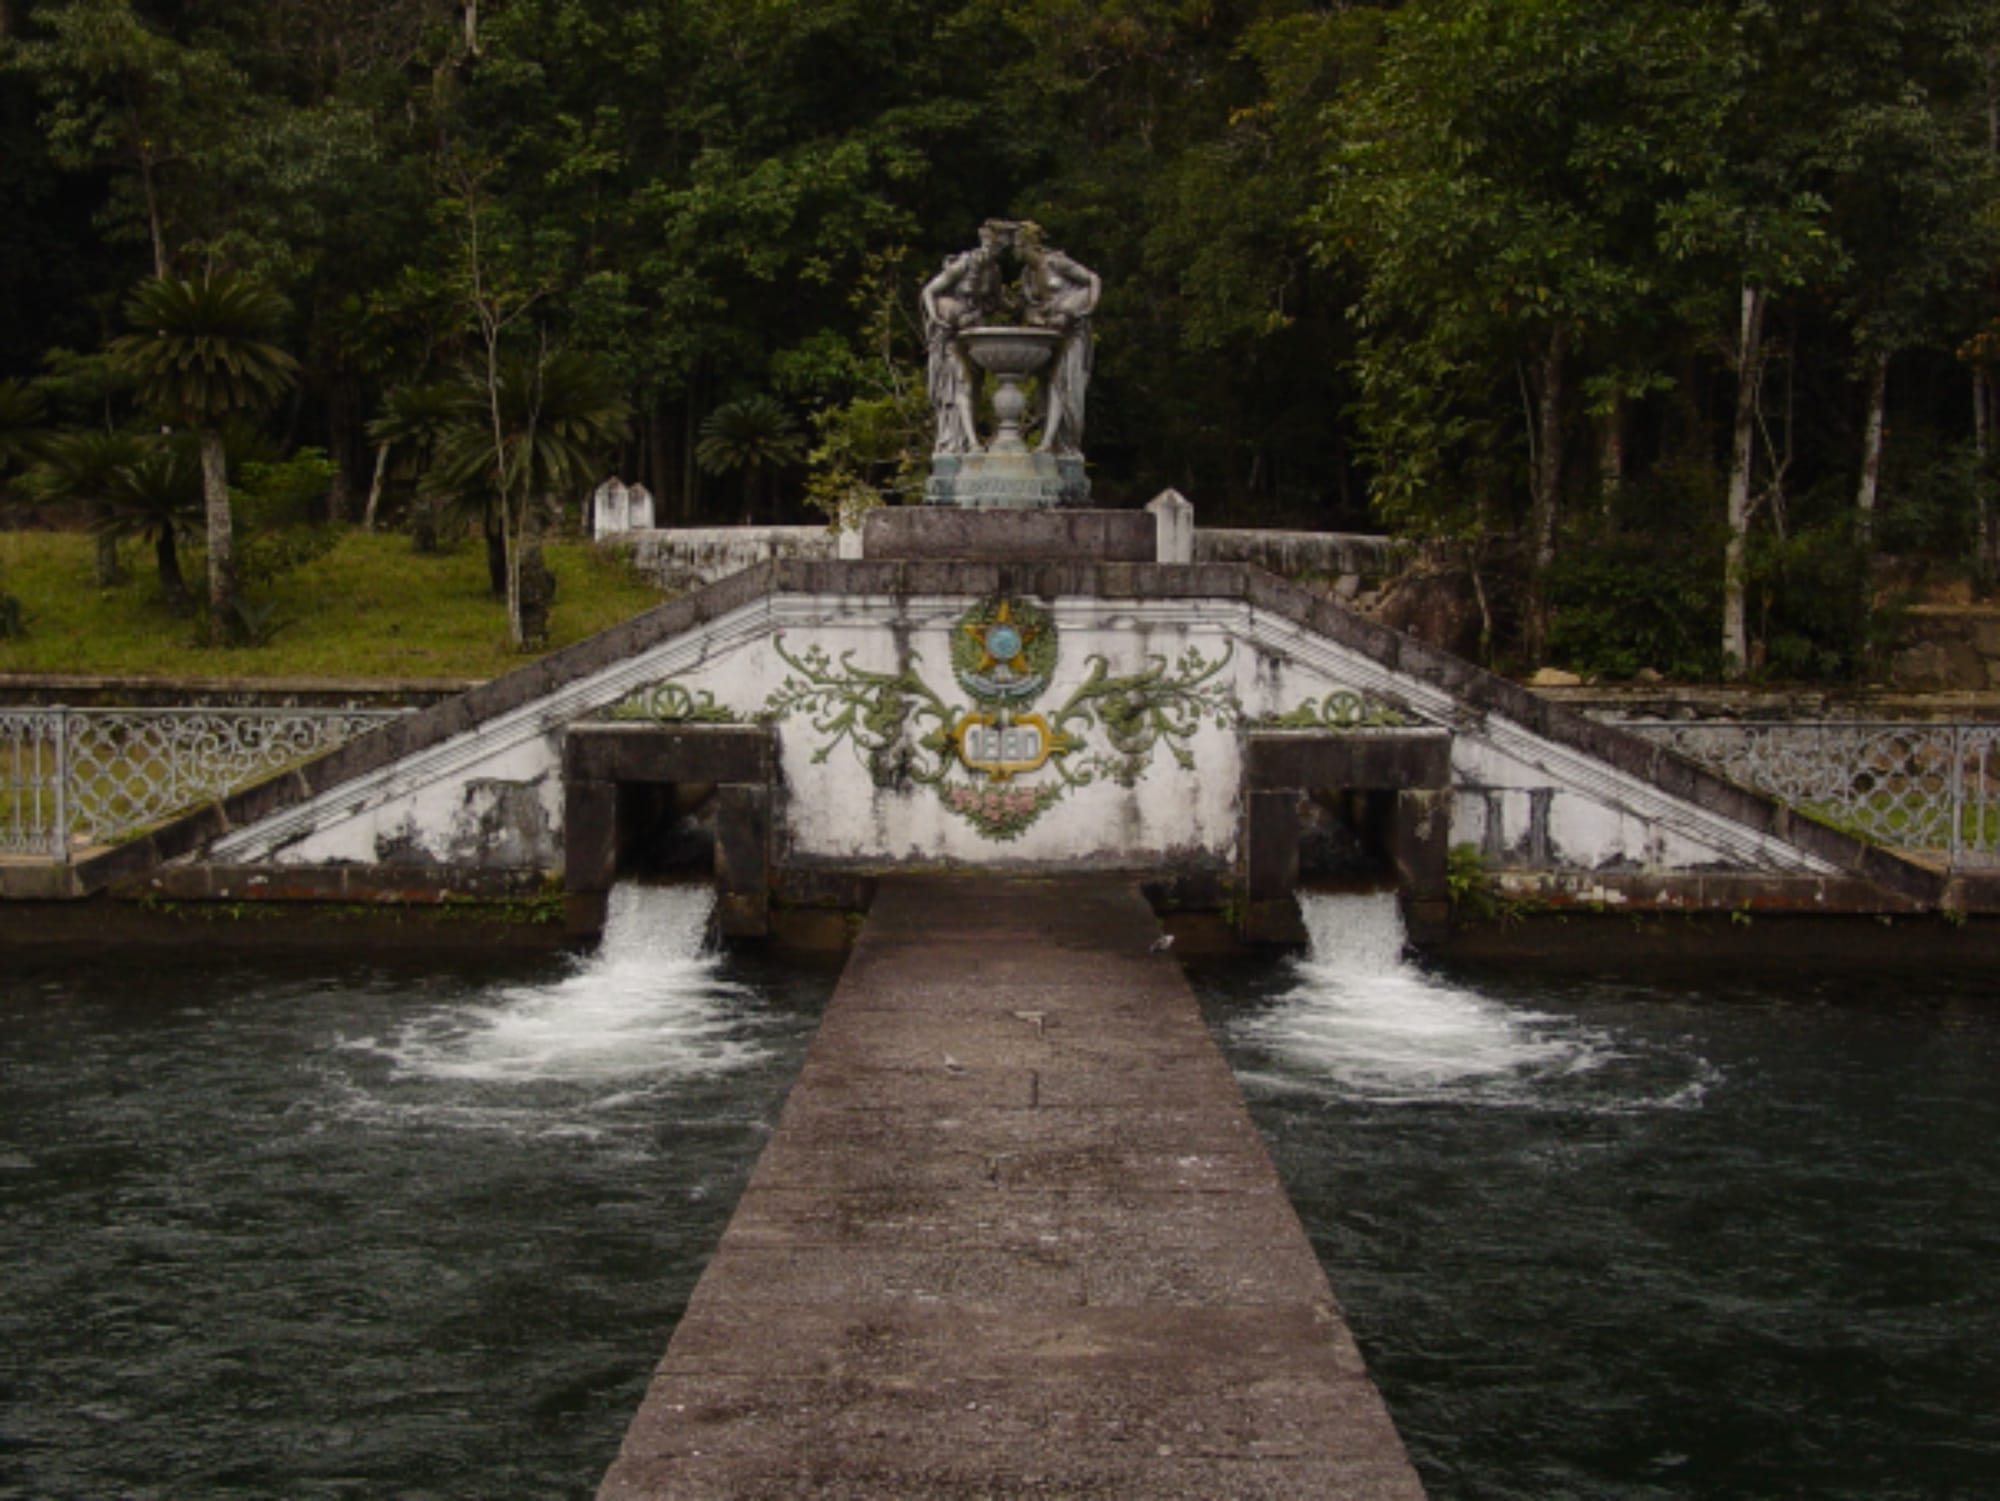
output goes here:
[[574, 973], [440, 1009], [360, 1047], [386, 1055], [392, 1079], [486, 1085], [654, 1085], [746, 1067], [764, 1049], [746, 1035], [748, 991], [722, 979], [708, 947], [712, 909], [708, 887], [622, 885], [598, 951]]

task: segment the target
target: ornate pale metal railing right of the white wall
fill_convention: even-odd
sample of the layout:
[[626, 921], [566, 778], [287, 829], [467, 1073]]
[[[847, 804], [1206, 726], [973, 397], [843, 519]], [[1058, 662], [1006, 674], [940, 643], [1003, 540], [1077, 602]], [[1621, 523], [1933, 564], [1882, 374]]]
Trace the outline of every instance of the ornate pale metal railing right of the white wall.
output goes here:
[[1624, 722], [1820, 823], [1950, 867], [2000, 865], [2000, 724]]

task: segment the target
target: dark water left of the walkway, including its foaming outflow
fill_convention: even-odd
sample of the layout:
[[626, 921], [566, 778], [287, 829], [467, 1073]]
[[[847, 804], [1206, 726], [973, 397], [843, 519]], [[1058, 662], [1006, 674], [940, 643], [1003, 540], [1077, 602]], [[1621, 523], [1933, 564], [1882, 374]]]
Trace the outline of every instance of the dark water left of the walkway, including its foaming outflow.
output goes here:
[[[16, 959], [0, 1497], [590, 1495], [832, 975]], [[220, 949], [220, 945], [218, 945]]]

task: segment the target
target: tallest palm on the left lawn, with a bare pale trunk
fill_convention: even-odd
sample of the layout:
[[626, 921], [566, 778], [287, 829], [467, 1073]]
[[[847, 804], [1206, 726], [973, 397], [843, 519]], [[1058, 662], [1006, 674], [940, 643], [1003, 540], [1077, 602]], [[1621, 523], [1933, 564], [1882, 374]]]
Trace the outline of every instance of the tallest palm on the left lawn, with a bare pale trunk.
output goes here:
[[126, 300], [126, 318], [140, 332], [110, 344], [138, 398], [200, 442], [208, 638], [218, 646], [238, 620], [222, 420], [270, 406], [296, 380], [298, 360], [270, 342], [284, 314], [284, 298], [248, 276], [214, 272], [198, 282], [160, 276], [142, 282]]

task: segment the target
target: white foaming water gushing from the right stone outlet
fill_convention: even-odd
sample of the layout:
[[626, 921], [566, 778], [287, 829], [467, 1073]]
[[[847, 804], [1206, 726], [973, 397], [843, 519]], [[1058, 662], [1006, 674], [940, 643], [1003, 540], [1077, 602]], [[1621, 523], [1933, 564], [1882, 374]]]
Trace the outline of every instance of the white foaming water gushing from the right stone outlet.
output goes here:
[[1310, 935], [1298, 983], [1236, 1025], [1288, 1071], [1356, 1099], [1504, 1105], [1616, 1057], [1590, 1029], [1426, 975], [1404, 957], [1394, 893], [1298, 901]]

